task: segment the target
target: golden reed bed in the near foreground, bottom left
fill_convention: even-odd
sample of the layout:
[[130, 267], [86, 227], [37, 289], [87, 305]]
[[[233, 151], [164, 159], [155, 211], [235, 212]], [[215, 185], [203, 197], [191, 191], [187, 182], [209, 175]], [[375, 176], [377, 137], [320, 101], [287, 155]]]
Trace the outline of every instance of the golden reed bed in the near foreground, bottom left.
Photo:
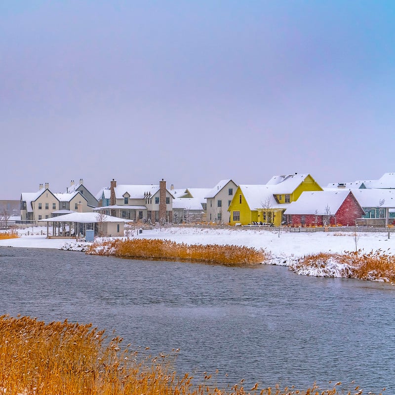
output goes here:
[[[219, 389], [210, 375], [193, 384], [189, 374], [178, 376], [168, 356], [147, 356], [122, 347], [118, 337], [108, 341], [90, 324], [51, 322], [31, 317], [0, 316], [0, 393], [11, 395], [337, 395], [313, 385], [307, 390], [278, 385], [259, 389], [239, 384]], [[104, 345], [106, 343], [106, 345]], [[171, 358], [170, 358], [171, 362]], [[358, 387], [348, 395], [362, 394]]]

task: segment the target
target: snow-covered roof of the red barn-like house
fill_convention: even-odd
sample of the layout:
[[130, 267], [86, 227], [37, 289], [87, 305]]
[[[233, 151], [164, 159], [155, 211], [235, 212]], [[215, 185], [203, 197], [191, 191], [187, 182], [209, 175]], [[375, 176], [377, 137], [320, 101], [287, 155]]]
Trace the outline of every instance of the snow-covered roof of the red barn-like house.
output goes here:
[[302, 192], [298, 200], [289, 204], [285, 214], [335, 214], [350, 193], [350, 190]]

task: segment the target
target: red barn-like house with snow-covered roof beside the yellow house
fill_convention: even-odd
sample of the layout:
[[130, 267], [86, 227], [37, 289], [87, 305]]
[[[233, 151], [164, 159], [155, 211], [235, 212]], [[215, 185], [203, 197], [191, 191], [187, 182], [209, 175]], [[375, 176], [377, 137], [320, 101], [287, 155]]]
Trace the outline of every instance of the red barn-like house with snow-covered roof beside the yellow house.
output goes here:
[[364, 214], [350, 190], [303, 192], [285, 210], [293, 226], [355, 225]]

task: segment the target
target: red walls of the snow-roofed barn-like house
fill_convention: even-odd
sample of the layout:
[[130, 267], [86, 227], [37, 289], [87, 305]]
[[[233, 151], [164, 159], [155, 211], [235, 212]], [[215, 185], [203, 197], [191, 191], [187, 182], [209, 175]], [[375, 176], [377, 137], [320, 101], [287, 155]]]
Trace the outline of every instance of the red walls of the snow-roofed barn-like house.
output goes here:
[[[333, 213], [331, 213], [333, 215]], [[349, 195], [344, 199], [342, 205], [339, 207], [336, 216], [336, 224], [341, 225], [355, 225], [356, 218], [361, 218], [364, 214], [361, 206], [356, 201], [354, 195], [350, 192]], [[302, 223], [302, 214], [293, 214], [292, 225], [300, 225]], [[314, 214], [305, 215], [305, 225], [322, 225], [322, 215], [318, 215], [318, 221], [316, 224], [316, 216]], [[330, 218], [330, 224], [335, 225], [335, 218]]]

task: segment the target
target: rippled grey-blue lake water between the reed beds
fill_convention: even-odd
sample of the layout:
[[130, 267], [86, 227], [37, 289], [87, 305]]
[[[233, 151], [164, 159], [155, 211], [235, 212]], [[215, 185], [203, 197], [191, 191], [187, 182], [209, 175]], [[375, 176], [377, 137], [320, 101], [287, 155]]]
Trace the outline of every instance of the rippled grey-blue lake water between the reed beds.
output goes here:
[[219, 369], [218, 385], [245, 379], [246, 388], [355, 380], [395, 394], [388, 284], [4, 247], [0, 273], [1, 314], [92, 322], [153, 355], [180, 348], [180, 375]]

